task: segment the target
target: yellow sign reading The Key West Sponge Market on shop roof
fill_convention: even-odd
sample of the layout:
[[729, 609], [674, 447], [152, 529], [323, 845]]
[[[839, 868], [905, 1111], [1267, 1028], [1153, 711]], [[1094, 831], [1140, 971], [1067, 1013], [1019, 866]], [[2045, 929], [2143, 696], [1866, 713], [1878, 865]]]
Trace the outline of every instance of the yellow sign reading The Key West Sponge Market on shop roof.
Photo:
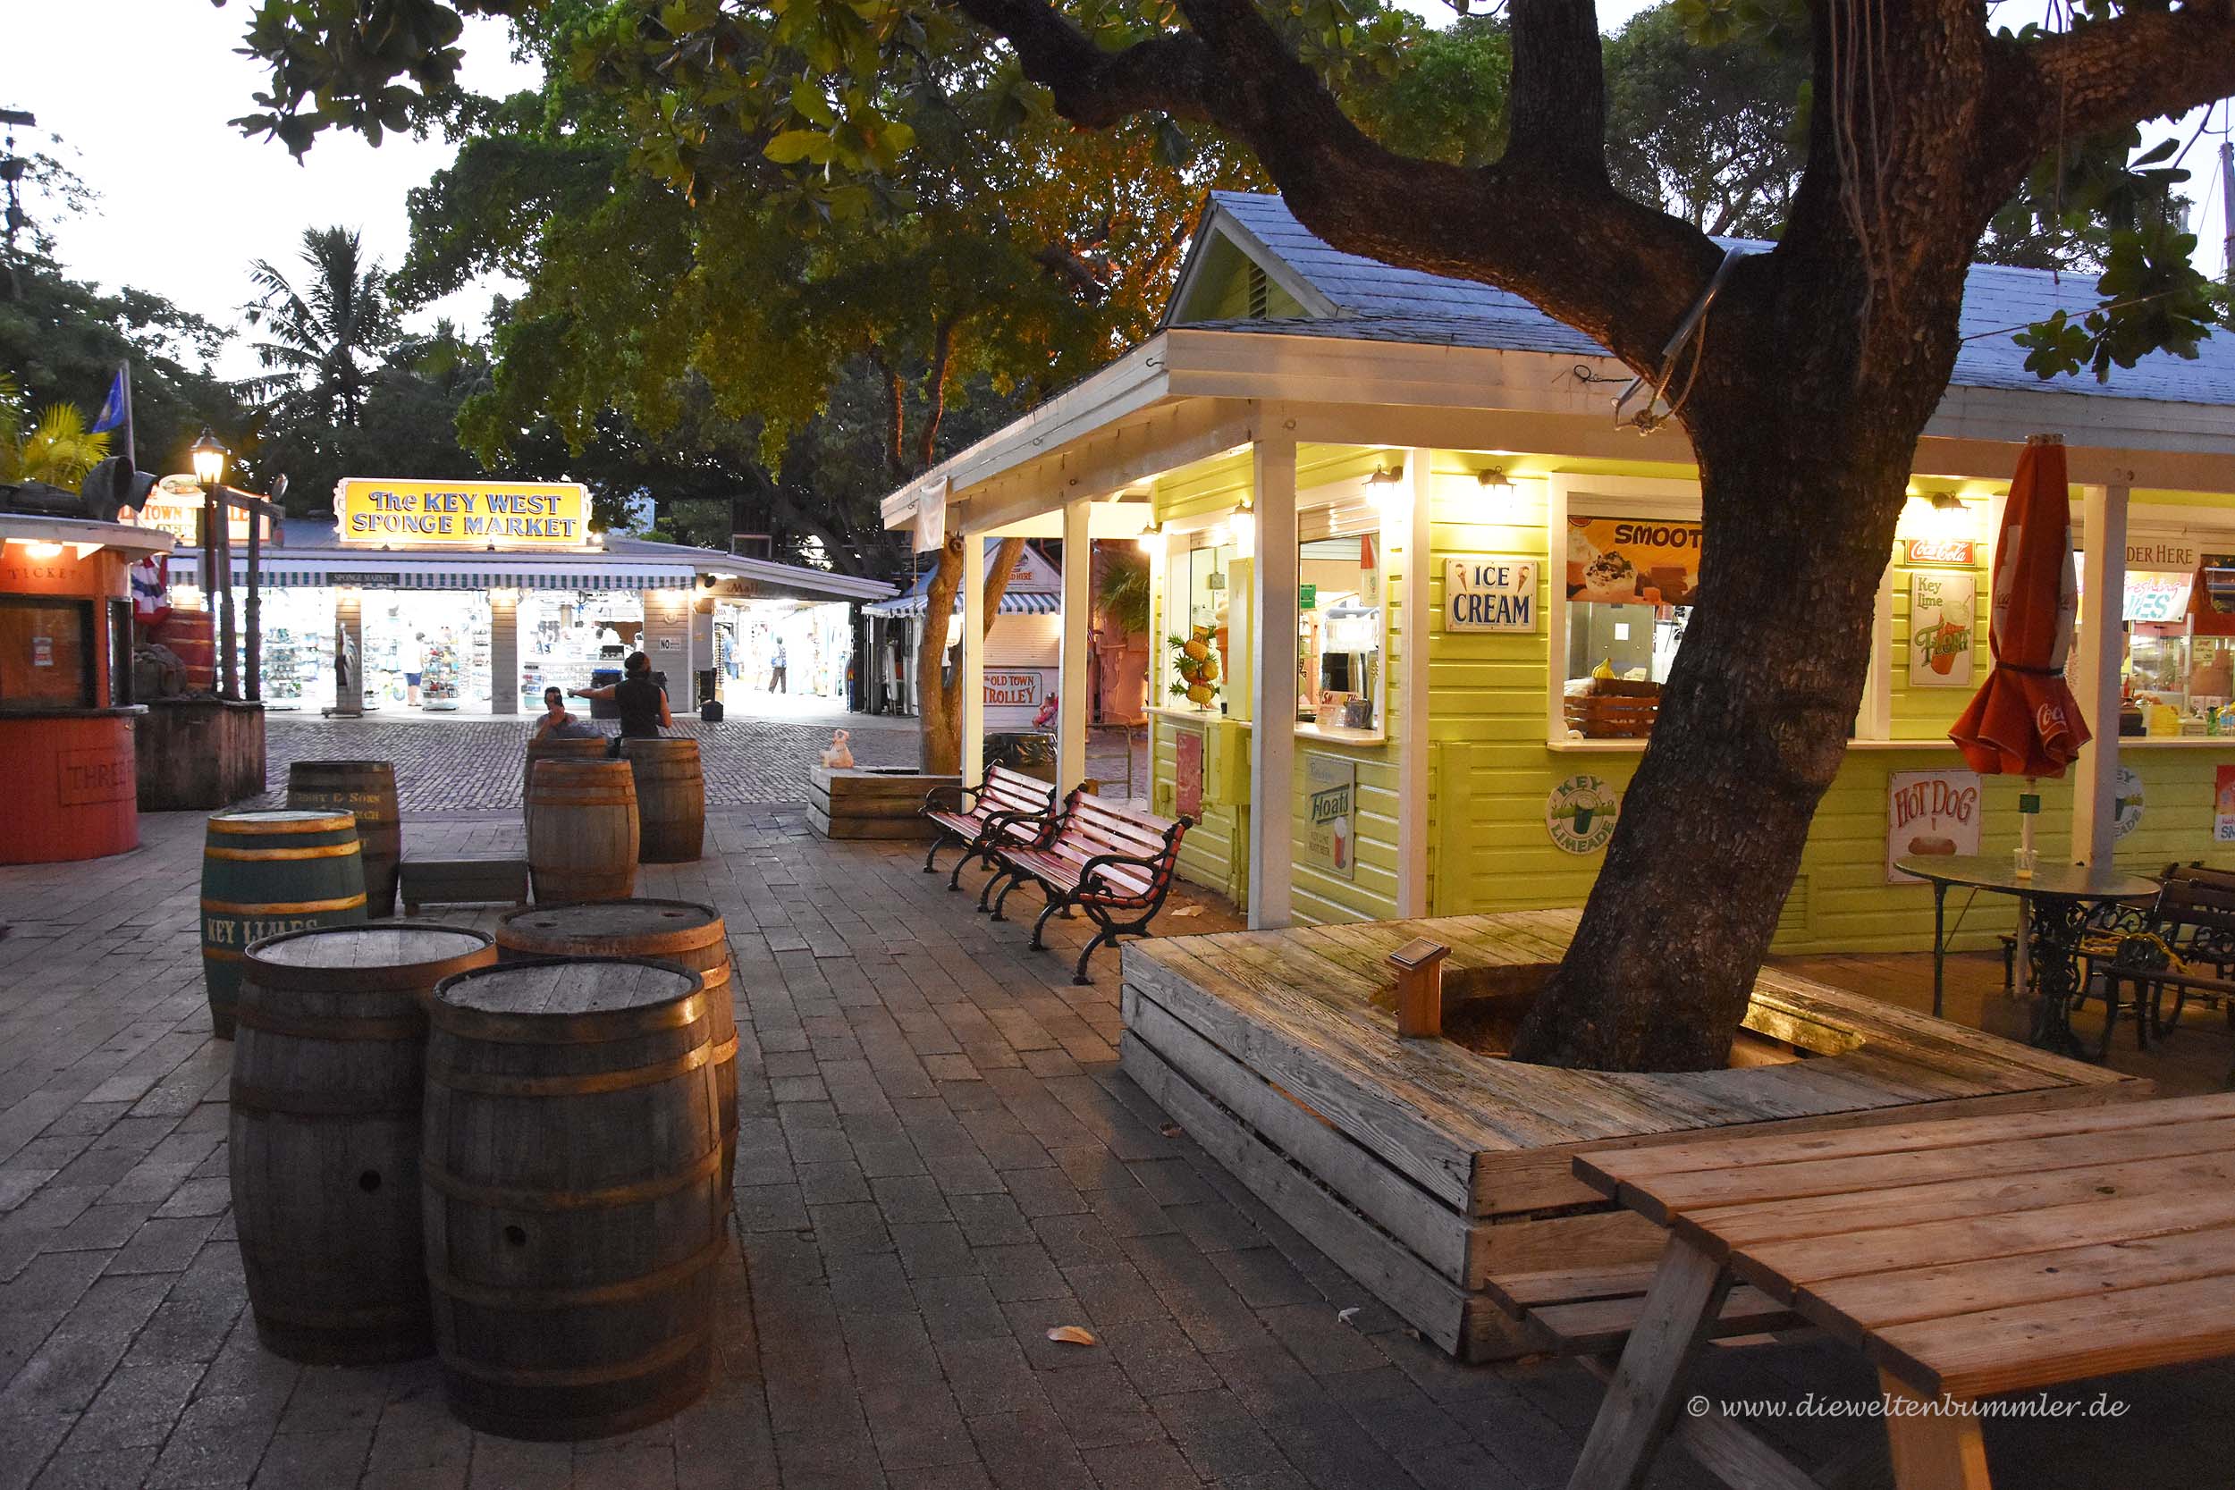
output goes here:
[[378, 480], [333, 489], [346, 547], [579, 550], [590, 494], [568, 480]]

